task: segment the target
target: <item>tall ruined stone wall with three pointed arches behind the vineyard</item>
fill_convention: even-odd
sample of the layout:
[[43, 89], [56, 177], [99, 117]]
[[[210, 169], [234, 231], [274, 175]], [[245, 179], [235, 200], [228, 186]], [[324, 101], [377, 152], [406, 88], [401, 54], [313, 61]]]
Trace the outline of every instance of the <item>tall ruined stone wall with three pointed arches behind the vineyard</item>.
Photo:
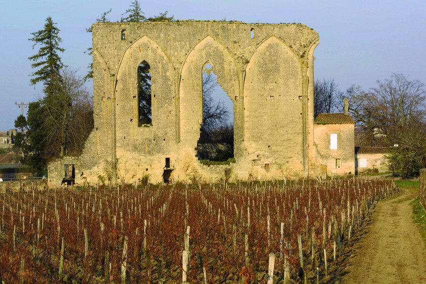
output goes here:
[[[110, 170], [113, 182], [145, 175], [160, 182], [165, 170], [178, 180], [217, 180], [226, 169], [232, 179], [319, 173], [314, 30], [217, 21], [96, 23], [92, 29], [95, 128], [80, 157], [49, 165], [51, 183], [64, 177], [65, 164], [75, 164], [76, 183], [95, 183]], [[143, 61], [151, 73], [152, 125], [138, 126]], [[236, 162], [230, 165], [206, 166], [196, 157], [207, 62], [234, 104]]]

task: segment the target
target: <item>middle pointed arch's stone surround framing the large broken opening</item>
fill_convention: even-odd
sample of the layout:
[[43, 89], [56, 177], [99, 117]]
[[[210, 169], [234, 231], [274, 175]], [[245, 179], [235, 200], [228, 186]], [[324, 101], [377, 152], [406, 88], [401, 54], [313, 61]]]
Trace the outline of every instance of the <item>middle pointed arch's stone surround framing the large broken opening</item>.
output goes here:
[[[230, 52], [215, 39], [206, 36], [196, 44], [181, 68], [179, 84], [180, 143], [194, 149], [202, 122], [201, 72], [209, 62], [215, 68], [218, 83], [234, 103], [234, 141], [242, 136], [240, 72]], [[241, 140], [241, 138], [240, 138]], [[235, 142], [235, 147], [237, 143]], [[194, 153], [192, 153], [194, 154]]]

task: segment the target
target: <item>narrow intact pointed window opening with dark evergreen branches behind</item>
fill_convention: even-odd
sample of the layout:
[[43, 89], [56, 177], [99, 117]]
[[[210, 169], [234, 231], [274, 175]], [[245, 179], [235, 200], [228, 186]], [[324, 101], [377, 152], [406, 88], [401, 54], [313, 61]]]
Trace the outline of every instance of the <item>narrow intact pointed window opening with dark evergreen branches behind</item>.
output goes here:
[[142, 61], [137, 68], [138, 126], [152, 125], [151, 67]]

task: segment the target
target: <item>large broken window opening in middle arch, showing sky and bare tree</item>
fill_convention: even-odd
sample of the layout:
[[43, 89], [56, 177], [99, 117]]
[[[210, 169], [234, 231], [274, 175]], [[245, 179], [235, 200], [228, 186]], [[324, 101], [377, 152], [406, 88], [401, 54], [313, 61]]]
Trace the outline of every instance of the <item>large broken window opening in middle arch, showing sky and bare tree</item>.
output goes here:
[[234, 103], [218, 83], [214, 66], [202, 68], [202, 123], [196, 155], [201, 161], [234, 162]]

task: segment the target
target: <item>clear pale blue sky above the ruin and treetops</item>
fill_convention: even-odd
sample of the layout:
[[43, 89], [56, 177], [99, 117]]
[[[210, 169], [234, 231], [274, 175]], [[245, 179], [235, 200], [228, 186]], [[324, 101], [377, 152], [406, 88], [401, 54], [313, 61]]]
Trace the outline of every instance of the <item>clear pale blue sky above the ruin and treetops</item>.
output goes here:
[[[0, 0], [0, 130], [14, 128], [21, 109], [15, 101], [32, 102], [43, 86], [30, 85], [28, 57], [38, 52], [29, 41], [52, 17], [61, 30], [62, 61], [86, 75], [91, 47], [86, 32], [103, 12], [119, 21], [132, 0]], [[176, 20], [226, 20], [245, 23], [301, 23], [320, 37], [315, 49], [315, 79], [333, 79], [345, 91], [364, 90], [392, 73], [426, 83], [426, 1], [288, 1], [288, 0], [155, 0], [139, 1], [146, 17], [168, 11]], [[88, 87], [91, 88], [91, 82]], [[26, 110], [26, 109], [25, 109]]]

